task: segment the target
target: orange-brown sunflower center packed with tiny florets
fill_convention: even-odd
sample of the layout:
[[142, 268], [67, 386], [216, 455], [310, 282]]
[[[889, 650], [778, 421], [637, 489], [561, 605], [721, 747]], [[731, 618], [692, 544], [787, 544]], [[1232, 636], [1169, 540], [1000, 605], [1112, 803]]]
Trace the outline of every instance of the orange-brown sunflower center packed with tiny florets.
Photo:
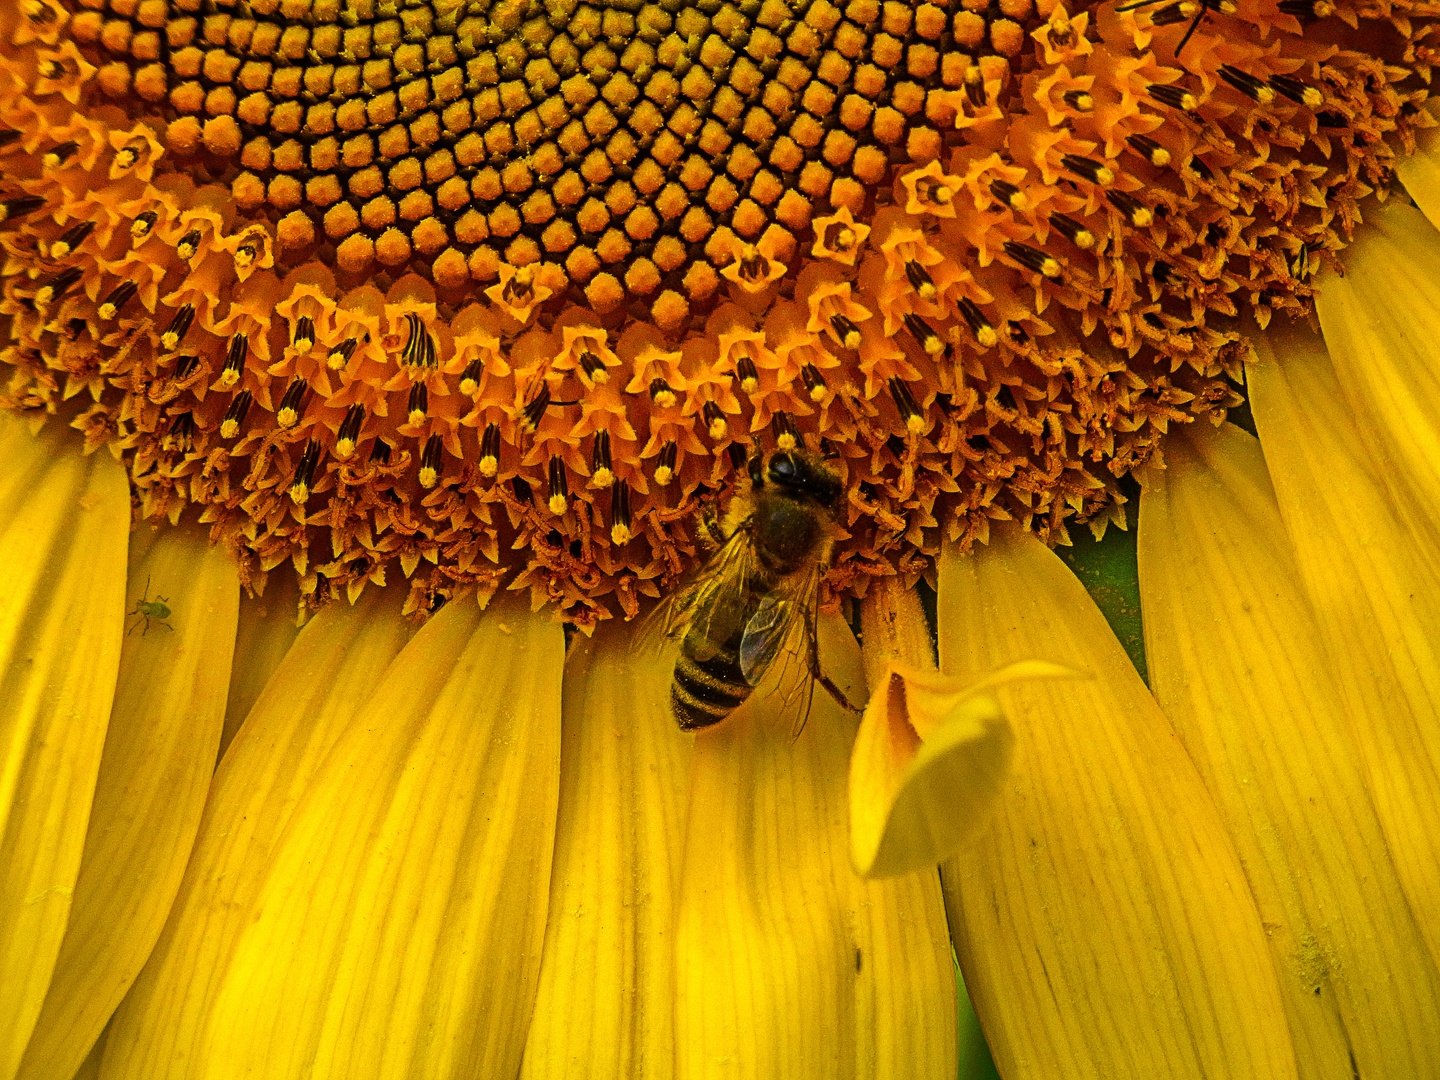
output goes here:
[[1308, 310], [1428, 122], [1433, 20], [1372, 14], [26, 0], [3, 403], [315, 603], [399, 566], [415, 609], [634, 615], [802, 444], [835, 590], [1058, 539], [1240, 400], [1247, 321]]

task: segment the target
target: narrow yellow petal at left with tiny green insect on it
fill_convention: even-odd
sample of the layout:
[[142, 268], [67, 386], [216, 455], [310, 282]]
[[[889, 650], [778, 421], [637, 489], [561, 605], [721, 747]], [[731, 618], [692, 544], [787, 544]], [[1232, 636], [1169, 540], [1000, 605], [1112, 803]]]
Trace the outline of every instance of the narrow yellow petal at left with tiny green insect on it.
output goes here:
[[[141, 528], [131, 611], [65, 942], [20, 1080], [71, 1076], [160, 936], [200, 824], [225, 719], [239, 580], [203, 534]], [[170, 629], [166, 629], [166, 625]]]

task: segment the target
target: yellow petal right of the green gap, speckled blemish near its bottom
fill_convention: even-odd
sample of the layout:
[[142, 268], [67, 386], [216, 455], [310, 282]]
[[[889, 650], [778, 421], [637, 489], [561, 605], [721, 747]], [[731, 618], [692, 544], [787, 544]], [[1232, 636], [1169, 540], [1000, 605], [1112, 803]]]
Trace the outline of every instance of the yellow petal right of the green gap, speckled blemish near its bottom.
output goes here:
[[1440, 1077], [1440, 973], [1365, 789], [1260, 444], [1208, 425], [1145, 475], [1151, 685], [1240, 850], [1300, 1074]]

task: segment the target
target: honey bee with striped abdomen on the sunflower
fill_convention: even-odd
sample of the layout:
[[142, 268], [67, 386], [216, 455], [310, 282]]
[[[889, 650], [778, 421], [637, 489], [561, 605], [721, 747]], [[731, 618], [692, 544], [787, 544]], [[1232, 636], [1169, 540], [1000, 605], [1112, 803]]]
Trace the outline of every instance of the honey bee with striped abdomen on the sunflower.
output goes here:
[[714, 554], [658, 612], [665, 636], [684, 635], [670, 707], [685, 730], [730, 716], [782, 652], [802, 655], [806, 664], [805, 714], [815, 683], [855, 711], [821, 671], [815, 634], [840, 477], [801, 449], [756, 455], [749, 474], [749, 490], [732, 503], [726, 527], [707, 523]]

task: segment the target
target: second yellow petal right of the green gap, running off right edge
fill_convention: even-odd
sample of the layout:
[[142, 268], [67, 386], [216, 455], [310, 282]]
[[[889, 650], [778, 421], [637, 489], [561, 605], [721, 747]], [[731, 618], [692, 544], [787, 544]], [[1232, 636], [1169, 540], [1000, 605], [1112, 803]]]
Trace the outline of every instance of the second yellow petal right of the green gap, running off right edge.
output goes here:
[[1400, 883], [1440, 960], [1440, 553], [1381, 487], [1320, 340], [1270, 334], [1256, 353], [1246, 379], [1280, 517]]

